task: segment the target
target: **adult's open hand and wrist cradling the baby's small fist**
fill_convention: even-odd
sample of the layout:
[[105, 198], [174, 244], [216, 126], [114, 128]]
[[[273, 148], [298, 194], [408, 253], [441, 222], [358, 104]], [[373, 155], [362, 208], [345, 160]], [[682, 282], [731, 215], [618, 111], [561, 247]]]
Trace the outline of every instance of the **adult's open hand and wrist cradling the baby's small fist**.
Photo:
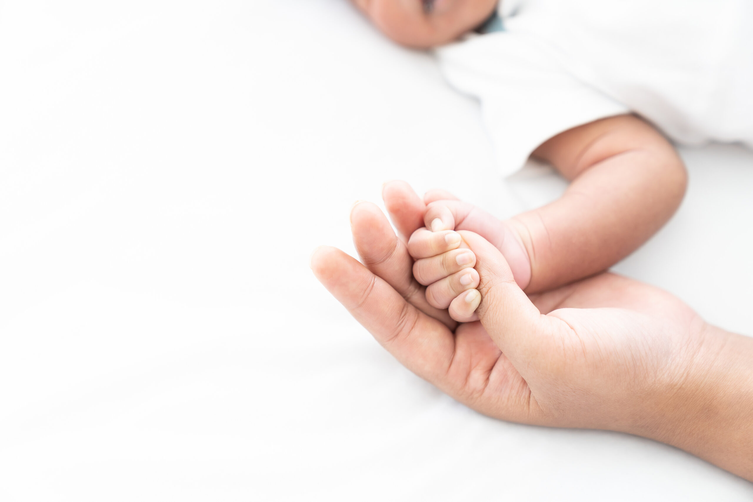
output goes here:
[[419, 308], [405, 300], [410, 261], [384, 253], [399, 239], [374, 209], [356, 205], [352, 223], [359, 253], [380, 256], [367, 262], [379, 275], [334, 248], [319, 248], [312, 269], [414, 373], [486, 415], [651, 437], [753, 479], [753, 340], [613, 274], [526, 297], [471, 232], [462, 235], [477, 256], [480, 322], [453, 330], [417, 294], [408, 298]]

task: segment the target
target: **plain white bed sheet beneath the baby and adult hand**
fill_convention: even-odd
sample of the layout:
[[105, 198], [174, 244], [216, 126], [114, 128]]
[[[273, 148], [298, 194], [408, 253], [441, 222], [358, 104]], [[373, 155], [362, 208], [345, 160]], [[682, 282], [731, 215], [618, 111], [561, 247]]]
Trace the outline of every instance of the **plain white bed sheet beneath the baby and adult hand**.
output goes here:
[[[753, 153], [615, 269], [753, 334]], [[473, 412], [313, 278], [383, 181], [501, 217], [476, 103], [345, 0], [0, 2], [0, 500], [751, 500], [691, 455]]]

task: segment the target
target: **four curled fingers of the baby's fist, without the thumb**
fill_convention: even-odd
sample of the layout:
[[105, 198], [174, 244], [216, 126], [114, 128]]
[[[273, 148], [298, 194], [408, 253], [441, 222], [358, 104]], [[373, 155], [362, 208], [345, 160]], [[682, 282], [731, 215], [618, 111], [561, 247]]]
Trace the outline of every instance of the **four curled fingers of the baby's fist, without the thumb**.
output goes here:
[[481, 302], [476, 290], [479, 275], [473, 267], [476, 255], [453, 230], [432, 232], [419, 228], [408, 240], [413, 276], [425, 285], [426, 301], [437, 309], [448, 309], [459, 322], [477, 321], [475, 310]]

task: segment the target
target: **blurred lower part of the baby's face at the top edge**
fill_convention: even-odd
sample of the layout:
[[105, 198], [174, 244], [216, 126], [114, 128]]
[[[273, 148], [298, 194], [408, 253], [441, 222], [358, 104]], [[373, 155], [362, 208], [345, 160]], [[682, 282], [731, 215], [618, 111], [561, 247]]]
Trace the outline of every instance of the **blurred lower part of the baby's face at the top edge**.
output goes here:
[[498, 0], [352, 0], [385, 35], [408, 47], [436, 47], [476, 28]]

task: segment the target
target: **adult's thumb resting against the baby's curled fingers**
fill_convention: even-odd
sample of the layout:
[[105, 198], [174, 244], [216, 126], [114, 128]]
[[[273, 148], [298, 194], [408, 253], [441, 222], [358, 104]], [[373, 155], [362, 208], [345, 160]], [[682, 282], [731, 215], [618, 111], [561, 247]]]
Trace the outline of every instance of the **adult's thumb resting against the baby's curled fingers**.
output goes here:
[[518, 363], [535, 361], [546, 322], [513, 278], [505, 257], [477, 233], [461, 230], [463, 240], [476, 254], [481, 303], [476, 313], [505, 356]]

